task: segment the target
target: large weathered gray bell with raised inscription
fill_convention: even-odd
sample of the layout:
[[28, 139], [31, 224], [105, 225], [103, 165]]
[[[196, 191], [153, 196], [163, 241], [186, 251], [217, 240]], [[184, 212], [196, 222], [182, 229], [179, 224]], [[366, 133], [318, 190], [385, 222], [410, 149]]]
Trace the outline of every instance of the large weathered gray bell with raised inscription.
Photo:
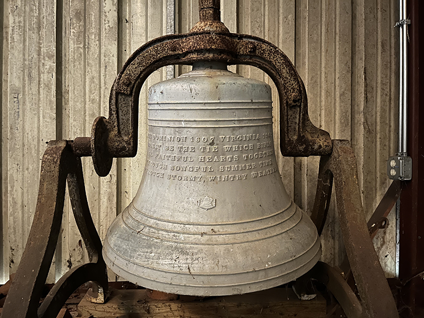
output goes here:
[[149, 91], [140, 188], [103, 248], [117, 275], [195, 296], [292, 281], [321, 254], [311, 219], [287, 195], [269, 85], [199, 63]]

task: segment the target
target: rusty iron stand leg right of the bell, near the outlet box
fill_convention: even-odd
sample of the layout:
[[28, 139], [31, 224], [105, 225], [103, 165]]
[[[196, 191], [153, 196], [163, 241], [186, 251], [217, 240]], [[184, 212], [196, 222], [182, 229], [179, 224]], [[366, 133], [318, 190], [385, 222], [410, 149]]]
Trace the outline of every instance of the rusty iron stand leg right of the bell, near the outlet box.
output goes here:
[[[331, 156], [321, 157], [311, 216], [320, 231], [326, 219], [333, 178], [343, 242], [361, 297], [362, 312], [352, 311], [353, 303], [344, 294], [335, 297], [338, 300], [344, 298], [339, 303], [349, 318], [399, 318], [395, 300], [370, 238], [361, 202], [356, 158], [347, 140], [333, 140]], [[340, 285], [340, 289], [346, 289], [346, 284], [340, 282], [333, 280], [334, 284]]]

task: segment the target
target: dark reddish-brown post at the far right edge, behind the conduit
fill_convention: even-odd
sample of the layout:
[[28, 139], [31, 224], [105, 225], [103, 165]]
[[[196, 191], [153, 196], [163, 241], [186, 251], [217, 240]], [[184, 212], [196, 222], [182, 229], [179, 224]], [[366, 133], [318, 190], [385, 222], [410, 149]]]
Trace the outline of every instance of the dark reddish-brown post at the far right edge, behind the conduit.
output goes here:
[[[411, 181], [405, 181], [400, 208], [399, 278], [405, 284], [399, 304], [402, 317], [424, 314], [424, 2], [407, 1], [408, 26], [408, 155]], [[420, 108], [421, 107], [421, 108]]]

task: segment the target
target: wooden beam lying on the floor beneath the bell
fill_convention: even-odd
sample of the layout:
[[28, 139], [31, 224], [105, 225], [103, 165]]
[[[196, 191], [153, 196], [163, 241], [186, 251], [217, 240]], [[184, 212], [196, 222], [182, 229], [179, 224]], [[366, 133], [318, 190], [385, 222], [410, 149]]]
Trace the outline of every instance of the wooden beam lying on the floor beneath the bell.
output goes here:
[[85, 298], [78, 305], [82, 317], [296, 317], [321, 318], [326, 315], [326, 301], [321, 295], [311, 301], [300, 301], [291, 289], [275, 288], [234, 296], [210, 297], [185, 302], [151, 300], [146, 290], [112, 290], [106, 304], [93, 304]]

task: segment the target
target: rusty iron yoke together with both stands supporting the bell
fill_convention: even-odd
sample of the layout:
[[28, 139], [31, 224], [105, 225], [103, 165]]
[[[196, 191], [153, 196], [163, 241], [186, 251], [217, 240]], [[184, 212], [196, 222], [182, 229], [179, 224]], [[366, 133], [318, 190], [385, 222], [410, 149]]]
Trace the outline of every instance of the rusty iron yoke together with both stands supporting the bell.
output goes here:
[[[88, 281], [93, 282], [89, 299], [98, 303], [106, 301], [107, 269], [88, 207], [80, 157], [91, 156], [100, 176], [110, 172], [113, 158], [134, 157], [138, 100], [143, 83], [162, 66], [190, 65], [198, 61], [251, 65], [271, 77], [280, 100], [281, 154], [322, 156], [312, 214], [319, 231], [326, 219], [334, 177], [341, 230], [361, 302], [340, 272], [329, 265], [319, 262], [307, 275], [327, 285], [348, 317], [399, 317], [370, 239], [356, 159], [349, 142], [332, 141], [326, 131], [311, 123], [305, 86], [279, 48], [258, 37], [229, 33], [219, 21], [219, 0], [200, 0], [199, 4], [200, 21], [190, 33], [159, 37], [140, 47], [128, 59], [111, 89], [109, 118], [95, 119], [91, 137], [48, 143], [41, 163], [32, 227], [1, 317], [56, 317], [73, 291]], [[66, 182], [89, 263], [69, 270], [38, 307], [59, 236]]]

